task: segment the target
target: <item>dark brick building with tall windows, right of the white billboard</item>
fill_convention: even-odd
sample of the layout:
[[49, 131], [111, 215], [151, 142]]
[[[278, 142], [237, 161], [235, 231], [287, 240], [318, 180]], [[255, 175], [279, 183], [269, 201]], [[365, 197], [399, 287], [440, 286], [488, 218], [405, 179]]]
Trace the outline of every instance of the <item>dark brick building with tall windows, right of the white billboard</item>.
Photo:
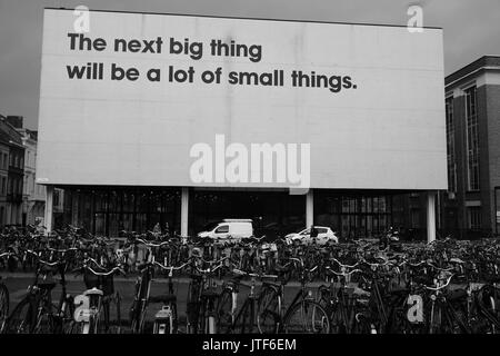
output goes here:
[[443, 234], [500, 233], [500, 57], [484, 56], [446, 78], [448, 192]]

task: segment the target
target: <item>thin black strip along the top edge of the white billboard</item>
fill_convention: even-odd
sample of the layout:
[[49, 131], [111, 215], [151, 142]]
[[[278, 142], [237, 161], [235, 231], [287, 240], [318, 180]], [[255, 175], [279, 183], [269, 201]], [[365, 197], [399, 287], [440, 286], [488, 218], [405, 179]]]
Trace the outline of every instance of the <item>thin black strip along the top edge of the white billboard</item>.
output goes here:
[[[70, 8], [52, 8], [46, 7], [44, 10], [62, 10], [74, 11]], [[214, 14], [196, 14], [196, 13], [171, 13], [171, 12], [152, 12], [152, 11], [123, 11], [123, 10], [92, 10], [89, 8], [89, 12], [111, 12], [111, 13], [136, 13], [136, 14], [162, 14], [162, 16], [183, 16], [183, 17], [197, 17], [197, 18], [211, 18], [211, 19], [231, 19], [231, 20], [253, 20], [253, 21], [277, 21], [277, 22], [302, 22], [302, 23], [327, 23], [327, 24], [354, 24], [354, 26], [376, 26], [376, 27], [397, 27], [407, 28], [404, 24], [387, 24], [387, 23], [363, 23], [363, 22], [336, 22], [336, 21], [319, 21], [319, 20], [283, 20], [283, 19], [262, 19], [262, 18], [244, 18], [244, 17], [230, 17], [230, 16], [214, 16]], [[442, 27], [422, 27], [423, 29], [442, 30]]]

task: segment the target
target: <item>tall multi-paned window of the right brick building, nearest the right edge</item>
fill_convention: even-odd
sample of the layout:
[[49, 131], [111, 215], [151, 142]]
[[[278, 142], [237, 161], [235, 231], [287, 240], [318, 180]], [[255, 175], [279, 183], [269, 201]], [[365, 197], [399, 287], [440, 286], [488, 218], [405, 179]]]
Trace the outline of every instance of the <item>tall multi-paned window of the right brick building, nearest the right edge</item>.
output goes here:
[[479, 190], [479, 132], [476, 87], [466, 90], [466, 119], [468, 190]]

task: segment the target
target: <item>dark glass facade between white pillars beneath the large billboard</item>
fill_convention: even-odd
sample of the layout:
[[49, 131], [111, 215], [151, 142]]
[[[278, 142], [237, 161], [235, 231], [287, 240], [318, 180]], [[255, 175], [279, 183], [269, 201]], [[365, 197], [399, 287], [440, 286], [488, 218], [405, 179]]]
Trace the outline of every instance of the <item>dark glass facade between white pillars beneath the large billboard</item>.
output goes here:
[[[61, 187], [63, 188], [63, 187]], [[390, 192], [314, 189], [314, 225], [327, 226], [343, 240], [376, 238], [389, 227], [407, 226], [406, 197]], [[56, 228], [83, 227], [98, 236], [121, 230], [146, 233], [160, 224], [180, 234], [181, 188], [66, 187], [64, 209]], [[224, 218], [252, 219], [259, 233], [284, 236], [306, 228], [306, 196], [288, 189], [190, 188], [189, 235]]]

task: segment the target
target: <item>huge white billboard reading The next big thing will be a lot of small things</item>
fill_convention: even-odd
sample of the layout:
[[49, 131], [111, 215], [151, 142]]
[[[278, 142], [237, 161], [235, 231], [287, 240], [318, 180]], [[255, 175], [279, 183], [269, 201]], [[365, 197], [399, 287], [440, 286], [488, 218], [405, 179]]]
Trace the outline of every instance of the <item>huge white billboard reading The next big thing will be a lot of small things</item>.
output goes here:
[[441, 29], [46, 9], [41, 61], [39, 184], [447, 188]]

